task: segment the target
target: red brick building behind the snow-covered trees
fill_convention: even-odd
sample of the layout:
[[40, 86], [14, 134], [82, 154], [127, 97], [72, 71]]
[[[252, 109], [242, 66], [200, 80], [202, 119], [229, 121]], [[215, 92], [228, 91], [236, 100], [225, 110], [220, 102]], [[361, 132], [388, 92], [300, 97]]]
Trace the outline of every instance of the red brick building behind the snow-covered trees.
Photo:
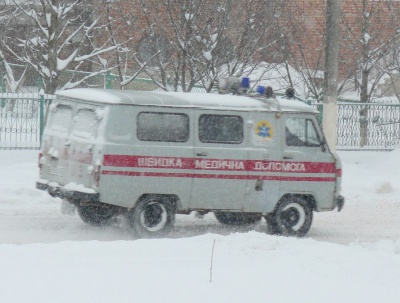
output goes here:
[[[124, 28], [119, 34], [134, 37], [136, 44], [145, 40], [146, 30], [140, 27], [149, 24], [149, 20], [141, 14], [139, 2], [115, 1], [114, 4], [117, 5], [113, 6], [111, 12], [116, 17], [125, 14], [117, 25], [119, 29]], [[212, 1], [210, 3], [213, 4]], [[269, 62], [288, 60], [295, 68], [322, 71], [326, 0], [281, 0], [276, 3], [279, 3], [277, 6], [280, 20], [277, 31], [285, 37], [284, 41], [277, 40], [277, 43], [285, 45], [285, 52], [279, 56], [267, 53], [260, 59]], [[400, 29], [400, 1], [346, 0], [340, 3], [340, 77], [354, 78], [360, 73], [360, 65], [363, 62], [375, 64], [383, 53], [386, 57], [389, 56], [389, 48], [396, 44], [393, 41], [396, 30]], [[131, 18], [129, 22], [135, 23], [135, 27], [126, 27], [127, 18]], [[160, 5], [153, 21], [163, 23], [165, 30], [168, 30], [167, 20]], [[400, 35], [398, 32], [397, 34]], [[397, 46], [400, 45], [399, 40]], [[142, 43], [141, 49], [139, 47], [140, 53], [146, 53], [146, 47], [148, 46]], [[159, 48], [162, 48], [162, 45], [159, 45]], [[282, 48], [282, 45], [278, 45], [276, 49], [281, 51]]]

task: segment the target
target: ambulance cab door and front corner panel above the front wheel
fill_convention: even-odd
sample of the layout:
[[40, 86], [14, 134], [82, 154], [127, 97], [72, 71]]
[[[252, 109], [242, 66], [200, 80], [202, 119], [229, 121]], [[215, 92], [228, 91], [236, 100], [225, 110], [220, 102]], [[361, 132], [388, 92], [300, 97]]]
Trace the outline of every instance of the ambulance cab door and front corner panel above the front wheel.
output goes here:
[[318, 210], [332, 209], [336, 186], [335, 159], [324, 143], [315, 115], [285, 114], [281, 191], [310, 193]]

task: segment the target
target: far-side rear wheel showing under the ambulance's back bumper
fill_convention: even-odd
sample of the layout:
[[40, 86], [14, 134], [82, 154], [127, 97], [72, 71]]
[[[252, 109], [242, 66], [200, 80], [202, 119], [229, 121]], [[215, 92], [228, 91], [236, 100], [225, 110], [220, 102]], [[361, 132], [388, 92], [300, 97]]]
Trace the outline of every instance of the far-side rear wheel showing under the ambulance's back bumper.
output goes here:
[[115, 210], [107, 206], [79, 205], [77, 208], [82, 221], [93, 226], [108, 225], [115, 216]]

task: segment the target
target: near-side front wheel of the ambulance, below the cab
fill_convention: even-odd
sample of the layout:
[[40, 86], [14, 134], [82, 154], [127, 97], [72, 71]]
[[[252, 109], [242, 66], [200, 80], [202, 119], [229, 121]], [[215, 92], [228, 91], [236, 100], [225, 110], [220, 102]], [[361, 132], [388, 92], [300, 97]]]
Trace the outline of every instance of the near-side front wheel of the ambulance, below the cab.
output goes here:
[[290, 197], [279, 203], [272, 224], [280, 235], [303, 237], [310, 230], [312, 218], [313, 211], [306, 200]]

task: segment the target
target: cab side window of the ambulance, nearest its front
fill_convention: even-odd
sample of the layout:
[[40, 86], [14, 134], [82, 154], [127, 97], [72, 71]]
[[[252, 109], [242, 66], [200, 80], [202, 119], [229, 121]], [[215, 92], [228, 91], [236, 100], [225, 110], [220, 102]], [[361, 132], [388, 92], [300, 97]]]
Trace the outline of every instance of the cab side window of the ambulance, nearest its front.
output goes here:
[[311, 119], [286, 119], [286, 145], [288, 146], [320, 146], [318, 133]]

